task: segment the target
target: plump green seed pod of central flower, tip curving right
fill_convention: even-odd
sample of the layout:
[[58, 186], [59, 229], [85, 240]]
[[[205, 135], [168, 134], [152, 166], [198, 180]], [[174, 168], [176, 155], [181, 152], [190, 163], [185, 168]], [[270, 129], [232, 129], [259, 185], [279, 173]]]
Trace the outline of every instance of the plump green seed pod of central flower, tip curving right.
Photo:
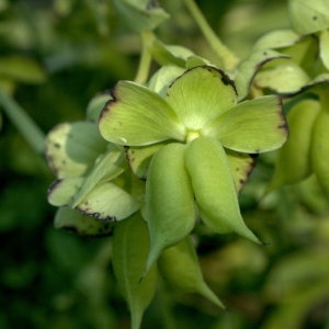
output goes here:
[[205, 225], [259, 243], [241, 217], [235, 180], [220, 143], [212, 137], [195, 138], [185, 151], [185, 166]]

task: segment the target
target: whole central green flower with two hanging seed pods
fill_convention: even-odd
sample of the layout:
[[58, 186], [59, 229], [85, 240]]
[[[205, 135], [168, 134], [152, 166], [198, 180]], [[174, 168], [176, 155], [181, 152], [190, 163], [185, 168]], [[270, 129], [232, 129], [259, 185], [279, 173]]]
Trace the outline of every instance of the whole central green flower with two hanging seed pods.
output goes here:
[[99, 129], [106, 140], [132, 147], [131, 166], [146, 177], [148, 268], [191, 232], [198, 214], [216, 232], [259, 242], [243, 223], [237, 192], [252, 169], [250, 154], [287, 138], [279, 97], [239, 103], [234, 81], [211, 66], [186, 70], [164, 97], [132, 81], [118, 81], [112, 97]]

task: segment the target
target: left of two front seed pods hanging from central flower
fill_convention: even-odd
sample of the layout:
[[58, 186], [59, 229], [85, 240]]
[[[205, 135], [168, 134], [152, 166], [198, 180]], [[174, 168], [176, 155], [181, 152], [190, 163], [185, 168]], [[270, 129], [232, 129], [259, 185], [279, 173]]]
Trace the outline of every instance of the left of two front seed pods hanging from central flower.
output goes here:
[[186, 145], [163, 146], [150, 162], [146, 181], [145, 216], [150, 231], [146, 271], [162, 250], [185, 238], [196, 219], [194, 197], [184, 164]]

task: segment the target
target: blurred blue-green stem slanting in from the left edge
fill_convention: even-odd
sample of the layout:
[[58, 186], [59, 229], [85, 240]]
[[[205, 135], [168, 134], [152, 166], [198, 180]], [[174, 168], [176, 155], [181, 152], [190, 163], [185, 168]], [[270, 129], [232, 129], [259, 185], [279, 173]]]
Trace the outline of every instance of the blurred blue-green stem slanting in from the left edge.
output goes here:
[[24, 110], [3, 90], [0, 89], [0, 105], [4, 113], [16, 126], [18, 131], [23, 135], [30, 146], [37, 152], [44, 152], [45, 135], [39, 127], [31, 120]]

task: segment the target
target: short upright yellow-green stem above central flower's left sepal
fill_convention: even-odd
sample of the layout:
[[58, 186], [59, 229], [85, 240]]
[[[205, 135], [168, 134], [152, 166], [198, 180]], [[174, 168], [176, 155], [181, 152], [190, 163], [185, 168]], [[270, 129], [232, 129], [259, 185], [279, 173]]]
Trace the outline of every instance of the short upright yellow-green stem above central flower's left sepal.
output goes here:
[[144, 31], [140, 33], [141, 38], [141, 54], [139, 59], [139, 66], [134, 79], [135, 82], [144, 84], [149, 75], [149, 69], [151, 65], [151, 55], [149, 52], [149, 47], [154, 42], [154, 34], [150, 31]]

